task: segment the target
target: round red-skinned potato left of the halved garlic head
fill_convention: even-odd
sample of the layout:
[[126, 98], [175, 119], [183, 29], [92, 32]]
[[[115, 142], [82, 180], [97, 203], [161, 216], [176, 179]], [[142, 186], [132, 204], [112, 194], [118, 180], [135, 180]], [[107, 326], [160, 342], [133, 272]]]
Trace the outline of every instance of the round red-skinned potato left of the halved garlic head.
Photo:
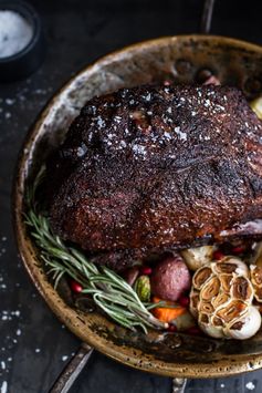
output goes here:
[[150, 277], [154, 296], [177, 301], [191, 287], [191, 276], [180, 256], [171, 256], [159, 262]]

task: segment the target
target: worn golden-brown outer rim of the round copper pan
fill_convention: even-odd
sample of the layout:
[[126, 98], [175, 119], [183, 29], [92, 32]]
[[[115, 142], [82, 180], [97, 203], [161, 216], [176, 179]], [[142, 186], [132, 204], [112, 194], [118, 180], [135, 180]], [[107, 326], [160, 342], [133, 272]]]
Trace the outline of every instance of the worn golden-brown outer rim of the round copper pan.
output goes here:
[[[241, 372], [253, 371], [262, 368], [262, 353], [260, 354], [240, 354], [240, 355], [228, 355], [227, 359], [221, 359], [219, 361], [213, 361], [211, 363], [190, 363], [180, 364], [180, 363], [165, 363], [161, 361], [151, 361], [148, 360], [143, 353], [138, 356], [137, 354], [128, 354], [126, 355], [123, 351], [119, 350], [119, 347], [106, 345], [103, 340], [97, 341], [97, 335], [91, 331], [91, 335], [86, 337], [81, 331], [78, 325], [72, 322], [75, 321], [78, 313], [71, 309], [60, 297], [59, 293], [53, 289], [51, 283], [44, 281], [43, 272], [41, 272], [40, 268], [36, 266], [36, 255], [34, 251], [34, 247], [32, 241], [28, 238], [27, 232], [24, 230], [24, 225], [22, 221], [22, 205], [23, 205], [23, 186], [27, 178], [27, 167], [32, 158], [31, 154], [35, 147], [39, 128], [41, 124], [43, 124], [45, 116], [50, 113], [53, 105], [61, 100], [62, 95], [65, 94], [67, 89], [72, 83], [75, 83], [82, 75], [88, 75], [92, 73], [97, 66], [105, 65], [111, 63], [116, 56], [118, 61], [122, 56], [130, 55], [134, 51], [142, 50], [143, 48], [155, 46], [155, 45], [165, 45], [167, 43], [175, 43], [177, 41], [182, 40], [198, 40], [198, 41], [211, 41], [213, 43], [222, 43], [228, 45], [238, 46], [243, 50], [254, 51], [259, 54], [262, 54], [262, 46], [249, 43], [245, 41], [224, 38], [219, 35], [201, 35], [201, 34], [184, 34], [184, 35], [174, 35], [174, 37], [164, 37], [153, 40], [143, 41], [139, 43], [135, 43], [124, 49], [114, 51], [92, 64], [83, 68], [80, 72], [77, 72], [74, 76], [72, 76], [57, 92], [54, 93], [52, 99], [48, 102], [44, 110], [38, 116], [33, 126], [24, 138], [23, 146], [20, 151], [17, 168], [14, 172], [13, 178], [13, 195], [12, 195], [12, 204], [13, 204], [13, 225], [14, 225], [14, 234], [17, 238], [17, 245], [19, 252], [22, 257], [23, 265], [29, 272], [32, 281], [34, 282], [36, 289], [44, 298], [51, 310], [55, 313], [55, 316], [63, 321], [63, 323], [80, 339], [87, 342], [90, 345], [94, 347], [99, 352], [105, 355], [124, 363], [126, 365], [133, 366], [135, 369], [139, 369], [146, 372], [154, 372], [156, 374], [166, 375], [166, 376], [181, 376], [181, 378], [216, 378], [216, 376], [226, 376], [233, 375]], [[27, 152], [27, 153], [25, 153]], [[42, 278], [41, 278], [42, 276]], [[81, 324], [80, 324], [81, 325]], [[136, 352], [139, 352], [136, 350]], [[142, 361], [139, 361], [139, 358]]]

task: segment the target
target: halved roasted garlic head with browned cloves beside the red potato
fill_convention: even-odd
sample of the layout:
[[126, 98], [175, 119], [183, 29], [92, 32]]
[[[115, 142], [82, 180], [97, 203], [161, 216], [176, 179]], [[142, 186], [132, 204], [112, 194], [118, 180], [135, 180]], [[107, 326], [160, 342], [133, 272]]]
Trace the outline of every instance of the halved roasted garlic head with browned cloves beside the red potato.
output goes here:
[[205, 333], [238, 340], [256, 333], [261, 316], [252, 306], [254, 289], [249, 276], [248, 266], [237, 257], [224, 257], [196, 271], [190, 311]]

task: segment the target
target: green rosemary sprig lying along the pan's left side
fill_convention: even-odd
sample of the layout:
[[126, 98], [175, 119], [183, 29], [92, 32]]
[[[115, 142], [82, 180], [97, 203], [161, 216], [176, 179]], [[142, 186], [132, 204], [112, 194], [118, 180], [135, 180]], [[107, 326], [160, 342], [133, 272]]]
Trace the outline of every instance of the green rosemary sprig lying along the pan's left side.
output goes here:
[[45, 174], [45, 167], [39, 172], [27, 193], [25, 224], [40, 256], [52, 273], [54, 287], [67, 275], [83, 287], [82, 293], [88, 293], [94, 302], [113, 320], [134, 330], [139, 327], [164, 329], [167, 325], [156, 319], [149, 310], [165, 304], [143, 303], [136, 291], [118, 275], [106, 267], [97, 267], [88, 261], [77, 249], [67, 246], [52, 232], [48, 217], [41, 211], [35, 199], [36, 189]]

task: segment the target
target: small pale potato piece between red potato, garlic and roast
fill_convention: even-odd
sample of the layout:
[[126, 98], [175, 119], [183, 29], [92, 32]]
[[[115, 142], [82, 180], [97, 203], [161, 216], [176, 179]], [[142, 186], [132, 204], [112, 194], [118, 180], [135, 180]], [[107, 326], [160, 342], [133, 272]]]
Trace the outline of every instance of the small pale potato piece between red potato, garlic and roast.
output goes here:
[[198, 270], [201, 266], [211, 262], [213, 251], [216, 248], [213, 246], [202, 246], [188, 248], [182, 250], [180, 254], [190, 270]]

